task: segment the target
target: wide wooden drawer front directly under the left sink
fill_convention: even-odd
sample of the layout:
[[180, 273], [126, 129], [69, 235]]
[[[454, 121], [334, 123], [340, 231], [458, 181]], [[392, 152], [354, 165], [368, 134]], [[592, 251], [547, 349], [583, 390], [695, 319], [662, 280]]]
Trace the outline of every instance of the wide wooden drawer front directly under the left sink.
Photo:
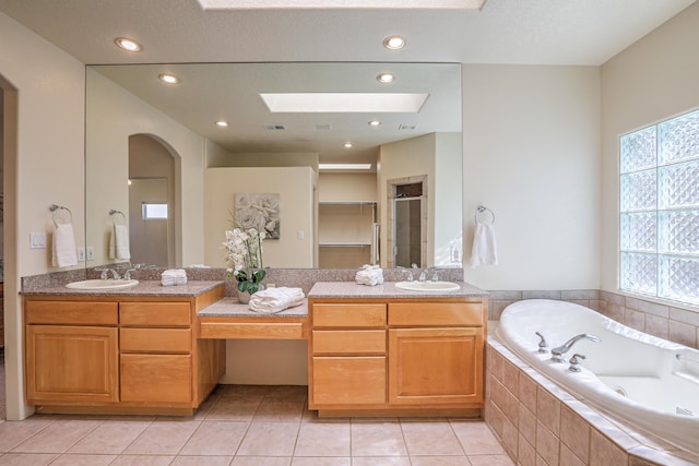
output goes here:
[[117, 302], [25, 301], [26, 324], [117, 325]]

